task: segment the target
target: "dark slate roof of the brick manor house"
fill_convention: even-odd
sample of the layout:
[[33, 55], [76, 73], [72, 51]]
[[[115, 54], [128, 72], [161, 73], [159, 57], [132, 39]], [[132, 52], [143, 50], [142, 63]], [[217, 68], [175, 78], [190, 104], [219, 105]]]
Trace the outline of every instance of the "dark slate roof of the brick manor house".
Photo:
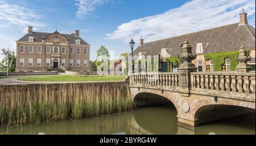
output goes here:
[[[47, 37], [54, 33], [47, 33], [47, 32], [33, 32], [32, 34], [27, 33], [25, 36], [20, 38], [18, 41], [28, 41], [28, 37], [33, 36], [34, 42], [42, 42], [43, 37]], [[81, 45], [89, 45], [86, 41], [84, 41], [81, 37], [76, 37], [75, 34], [61, 34], [66, 38], [68, 38], [70, 44], [76, 44], [76, 40], [79, 39], [81, 41]]]

